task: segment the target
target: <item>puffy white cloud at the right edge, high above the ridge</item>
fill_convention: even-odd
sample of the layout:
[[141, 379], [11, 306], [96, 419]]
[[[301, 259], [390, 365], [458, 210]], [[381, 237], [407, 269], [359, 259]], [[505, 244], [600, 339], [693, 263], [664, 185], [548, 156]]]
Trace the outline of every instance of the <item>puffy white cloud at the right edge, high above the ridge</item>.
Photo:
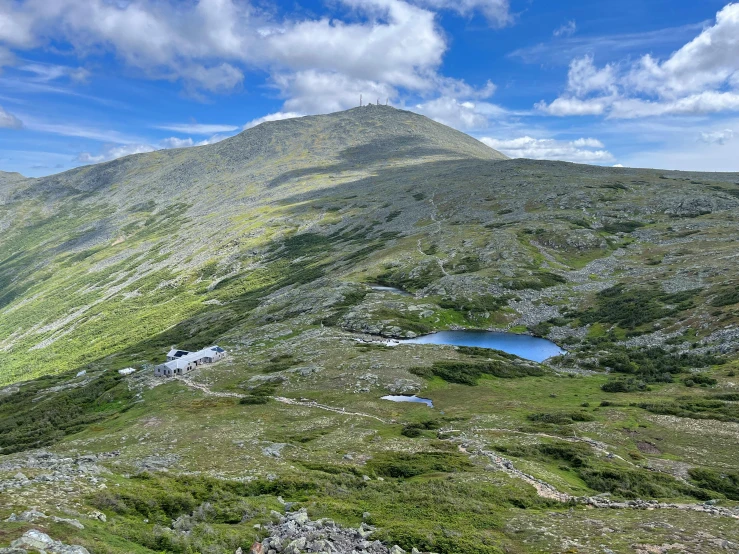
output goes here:
[[637, 118], [739, 111], [739, 3], [725, 6], [666, 60], [597, 67], [586, 55], [570, 64], [567, 88], [536, 107], [547, 114]]

